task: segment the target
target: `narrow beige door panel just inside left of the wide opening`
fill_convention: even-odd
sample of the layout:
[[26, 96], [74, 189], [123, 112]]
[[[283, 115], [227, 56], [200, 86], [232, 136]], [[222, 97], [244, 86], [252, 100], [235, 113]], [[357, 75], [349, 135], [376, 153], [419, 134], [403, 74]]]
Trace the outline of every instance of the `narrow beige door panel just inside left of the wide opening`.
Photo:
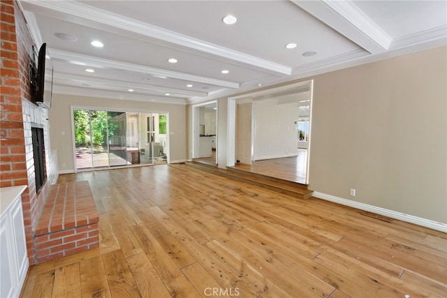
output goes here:
[[237, 104], [236, 161], [251, 165], [251, 103]]

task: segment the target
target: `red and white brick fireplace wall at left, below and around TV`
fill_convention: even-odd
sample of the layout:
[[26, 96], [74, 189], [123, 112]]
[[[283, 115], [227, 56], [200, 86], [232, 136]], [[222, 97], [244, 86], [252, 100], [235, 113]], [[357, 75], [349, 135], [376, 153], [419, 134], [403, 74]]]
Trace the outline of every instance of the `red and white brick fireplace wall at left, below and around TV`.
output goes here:
[[[49, 181], [57, 178], [52, 167], [47, 110], [31, 103], [29, 61], [34, 41], [22, 11], [15, 1], [0, 0], [1, 91], [0, 91], [0, 187], [27, 185], [22, 194], [29, 263], [36, 264], [33, 230], [41, 215]], [[31, 126], [43, 137], [43, 185], [36, 191]], [[1, 199], [0, 199], [1, 200]]]

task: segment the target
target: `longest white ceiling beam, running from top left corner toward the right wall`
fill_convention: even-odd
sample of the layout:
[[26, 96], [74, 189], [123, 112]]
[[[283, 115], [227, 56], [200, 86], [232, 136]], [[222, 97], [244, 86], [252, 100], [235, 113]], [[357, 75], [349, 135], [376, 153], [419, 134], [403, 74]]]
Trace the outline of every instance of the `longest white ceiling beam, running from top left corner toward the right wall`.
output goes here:
[[[213, 54], [221, 58], [230, 59], [232, 61], [238, 61], [244, 65], [249, 65], [254, 68], [261, 68], [263, 70], [269, 70], [273, 73], [281, 73], [283, 75], [290, 75], [291, 68], [281, 64], [274, 63], [265, 59], [237, 52], [235, 50], [228, 49], [227, 47], [221, 47], [212, 43], [207, 43], [204, 40], [192, 38], [184, 34], [180, 34], [174, 31], [166, 30], [160, 27], [156, 27], [144, 22], [139, 22], [129, 17], [110, 13], [105, 10], [92, 9], [83, 3], [75, 1], [33, 1], [33, 0], [21, 0], [24, 6], [32, 5], [44, 8], [42, 13], [51, 15], [59, 19], [66, 18], [66, 15], [80, 17], [83, 20], [89, 20], [90, 23], [96, 22], [97, 24], [105, 24], [108, 27], [119, 28], [125, 31], [138, 33], [142, 36], [148, 36], [150, 38], [156, 38], [168, 43], [174, 43], [193, 50]], [[53, 13], [48, 10], [53, 10]], [[56, 13], [54, 13], [56, 12]], [[85, 22], [80, 22], [84, 24]], [[102, 28], [101, 28], [102, 29]]]

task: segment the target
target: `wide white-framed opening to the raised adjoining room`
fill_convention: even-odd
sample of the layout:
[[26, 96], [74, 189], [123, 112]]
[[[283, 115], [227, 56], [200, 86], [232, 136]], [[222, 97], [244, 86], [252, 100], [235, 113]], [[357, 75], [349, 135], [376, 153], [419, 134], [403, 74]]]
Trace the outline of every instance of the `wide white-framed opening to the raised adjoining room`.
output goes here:
[[[241, 146], [248, 148], [240, 144], [244, 141], [238, 136], [238, 132], [243, 129], [241, 125], [244, 126], [247, 120], [247, 116], [243, 120], [239, 119], [238, 106], [250, 102], [253, 122], [251, 167], [256, 166], [257, 161], [284, 158], [284, 161], [295, 163], [296, 172], [304, 173], [300, 183], [309, 184], [312, 84], [312, 80], [298, 82], [228, 98], [227, 166], [233, 167], [240, 161]], [[300, 110], [307, 111], [300, 113]], [[235, 155], [231, 152], [235, 152]]]

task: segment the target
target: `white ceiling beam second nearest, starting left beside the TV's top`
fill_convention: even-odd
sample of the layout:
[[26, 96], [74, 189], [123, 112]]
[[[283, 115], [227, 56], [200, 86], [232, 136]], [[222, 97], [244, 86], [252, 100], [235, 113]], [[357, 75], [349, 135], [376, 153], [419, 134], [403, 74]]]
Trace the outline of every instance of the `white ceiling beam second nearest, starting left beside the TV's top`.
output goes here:
[[135, 71], [137, 73], [144, 73], [145, 75], [161, 75], [165, 77], [170, 77], [173, 79], [200, 82], [204, 84], [212, 84], [216, 86], [228, 87], [237, 89], [240, 85], [236, 82], [229, 82], [223, 80], [216, 80], [210, 77], [200, 77], [198, 75], [189, 75], [187, 73], [177, 73], [175, 71], [164, 70], [159, 68], [152, 68], [149, 66], [141, 66], [137, 64], [129, 64], [121, 61], [108, 60], [98, 57], [91, 57], [82, 54], [73, 54], [71, 52], [64, 52], [61, 50], [49, 49], [52, 59], [61, 59], [65, 61], [82, 61], [91, 67], [98, 68], [115, 68], [121, 70]]

